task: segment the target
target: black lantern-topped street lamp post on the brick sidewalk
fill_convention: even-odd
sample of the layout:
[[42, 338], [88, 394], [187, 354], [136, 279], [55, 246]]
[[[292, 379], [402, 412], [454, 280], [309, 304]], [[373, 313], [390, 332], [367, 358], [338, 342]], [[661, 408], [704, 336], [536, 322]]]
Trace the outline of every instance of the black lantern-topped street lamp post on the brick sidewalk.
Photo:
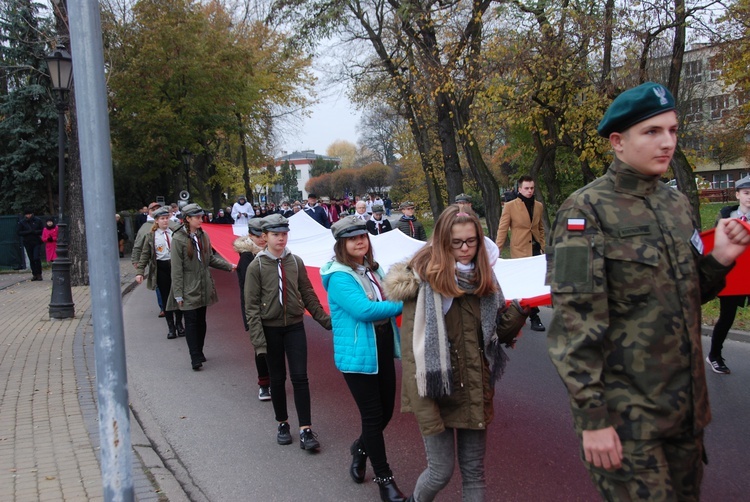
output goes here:
[[57, 198], [58, 222], [57, 259], [52, 263], [52, 298], [49, 316], [54, 319], [75, 317], [73, 292], [70, 288], [70, 259], [68, 258], [67, 225], [65, 224], [65, 97], [73, 81], [73, 61], [63, 47], [47, 56], [47, 67], [52, 79], [52, 90], [57, 98]]

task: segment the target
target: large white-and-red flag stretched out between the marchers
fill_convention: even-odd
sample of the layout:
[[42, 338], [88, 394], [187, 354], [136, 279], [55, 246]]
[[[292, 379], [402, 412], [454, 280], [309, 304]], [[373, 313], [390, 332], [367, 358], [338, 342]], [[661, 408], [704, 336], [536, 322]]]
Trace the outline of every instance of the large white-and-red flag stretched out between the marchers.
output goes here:
[[[232, 225], [212, 223], [204, 223], [203, 229], [211, 238], [211, 245], [222, 258], [234, 264], [239, 261], [239, 255], [232, 244], [243, 229], [234, 228]], [[244, 230], [247, 233], [247, 229]], [[424, 246], [424, 242], [412, 239], [398, 230], [370, 235], [370, 241], [375, 261], [386, 273], [391, 265], [408, 260]], [[304, 211], [289, 218], [287, 247], [305, 262], [310, 282], [326, 310], [328, 310], [328, 295], [323, 289], [320, 267], [333, 259], [335, 242], [331, 231], [310, 218]], [[544, 284], [546, 267], [547, 261], [544, 255], [512, 260], [499, 259], [494, 265], [495, 275], [500, 282], [505, 299], [517, 299], [523, 305], [530, 307], [550, 303], [549, 286]]]

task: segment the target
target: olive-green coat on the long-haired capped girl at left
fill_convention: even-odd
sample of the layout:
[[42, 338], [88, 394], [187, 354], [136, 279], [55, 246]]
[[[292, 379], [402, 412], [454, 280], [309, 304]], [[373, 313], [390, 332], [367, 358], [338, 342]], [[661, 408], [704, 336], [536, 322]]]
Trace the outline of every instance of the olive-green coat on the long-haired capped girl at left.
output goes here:
[[[213, 305], [219, 298], [208, 267], [232, 271], [231, 263], [213, 253], [208, 234], [202, 230], [199, 233], [207, 244], [203, 249], [202, 260], [198, 259], [198, 253], [184, 226], [172, 236], [172, 294], [166, 300], [166, 310], [195, 310]], [[193, 247], [192, 258], [188, 256], [188, 246]], [[182, 307], [177, 306], [175, 298], [182, 298]]]

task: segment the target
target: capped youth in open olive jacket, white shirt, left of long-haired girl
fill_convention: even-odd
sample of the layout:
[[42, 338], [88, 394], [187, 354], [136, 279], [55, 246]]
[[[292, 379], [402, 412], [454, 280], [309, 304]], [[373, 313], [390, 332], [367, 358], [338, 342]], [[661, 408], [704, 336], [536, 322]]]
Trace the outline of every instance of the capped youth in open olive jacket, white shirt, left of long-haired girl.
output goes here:
[[[154, 218], [154, 224], [151, 227], [151, 232], [146, 235], [143, 241], [143, 251], [136, 267], [135, 276], [135, 282], [141, 284], [146, 276], [146, 267], [148, 267], [146, 287], [151, 290], [158, 287], [165, 298], [172, 296], [171, 249], [174, 235], [172, 229], [169, 228], [170, 214], [171, 211], [168, 207], [160, 207], [151, 214]], [[167, 301], [164, 318], [167, 321], [168, 339], [185, 336], [182, 311], [177, 308], [174, 302]]]

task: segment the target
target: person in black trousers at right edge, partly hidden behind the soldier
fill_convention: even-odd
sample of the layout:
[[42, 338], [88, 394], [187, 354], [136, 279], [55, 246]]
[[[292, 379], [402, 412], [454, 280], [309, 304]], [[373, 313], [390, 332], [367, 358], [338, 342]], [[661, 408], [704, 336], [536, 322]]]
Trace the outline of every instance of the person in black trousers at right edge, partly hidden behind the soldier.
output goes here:
[[[717, 225], [724, 218], [738, 218], [742, 221], [750, 219], [750, 176], [745, 176], [734, 184], [734, 193], [739, 204], [721, 208], [716, 219]], [[724, 375], [731, 373], [722, 355], [724, 340], [727, 339], [729, 330], [734, 324], [737, 309], [746, 307], [749, 299], [748, 295], [719, 296], [719, 318], [711, 334], [711, 349], [706, 356], [706, 362], [714, 373]]]

